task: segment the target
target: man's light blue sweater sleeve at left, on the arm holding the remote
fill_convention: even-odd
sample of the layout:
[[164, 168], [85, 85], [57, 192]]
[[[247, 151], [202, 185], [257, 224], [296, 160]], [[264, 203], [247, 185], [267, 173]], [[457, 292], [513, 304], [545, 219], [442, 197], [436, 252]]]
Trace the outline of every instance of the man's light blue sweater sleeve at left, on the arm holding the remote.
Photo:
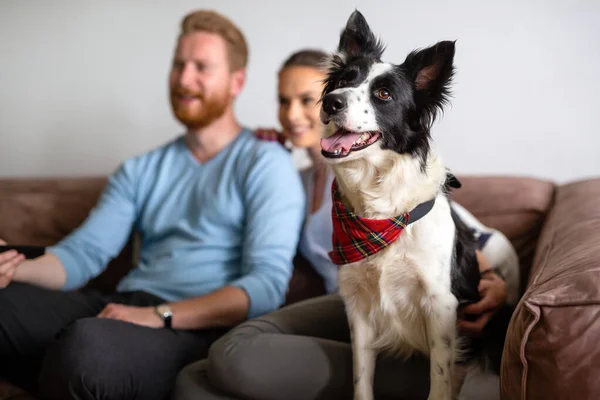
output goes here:
[[127, 242], [136, 218], [135, 173], [134, 159], [122, 164], [82, 225], [48, 248], [65, 268], [63, 290], [82, 287], [99, 275]]

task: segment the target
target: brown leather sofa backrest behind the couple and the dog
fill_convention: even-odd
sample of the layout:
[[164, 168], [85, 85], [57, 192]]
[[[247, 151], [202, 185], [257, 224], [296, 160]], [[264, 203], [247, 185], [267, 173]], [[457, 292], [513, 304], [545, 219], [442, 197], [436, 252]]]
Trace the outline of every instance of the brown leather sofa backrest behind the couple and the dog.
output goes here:
[[[511, 240], [521, 260], [525, 282], [542, 223], [552, 204], [554, 184], [513, 177], [459, 177], [463, 187], [452, 198], [485, 225]], [[94, 207], [105, 177], [0, 179], [0, 238], [13, 244], [48, 246], [78, 227]], [[89, 286], [114, 289], [132, 266], [135, 238]], [[297, 257], [288, 303], [324, 293], [323, 282]]]

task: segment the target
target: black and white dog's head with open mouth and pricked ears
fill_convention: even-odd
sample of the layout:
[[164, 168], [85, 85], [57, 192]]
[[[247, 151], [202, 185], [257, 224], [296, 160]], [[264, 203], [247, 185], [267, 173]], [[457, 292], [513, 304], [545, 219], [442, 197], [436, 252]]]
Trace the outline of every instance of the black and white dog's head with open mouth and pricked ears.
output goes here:
[[330, 163], [382, 150], [424, 161], [429, 129], [449, 95], [454, 43], [411, 52], [395, 65], [381, 61], [384, 45], [354, 11], [340, 36], [321, 98], [321, 120], [334, 133], [321, 140]]

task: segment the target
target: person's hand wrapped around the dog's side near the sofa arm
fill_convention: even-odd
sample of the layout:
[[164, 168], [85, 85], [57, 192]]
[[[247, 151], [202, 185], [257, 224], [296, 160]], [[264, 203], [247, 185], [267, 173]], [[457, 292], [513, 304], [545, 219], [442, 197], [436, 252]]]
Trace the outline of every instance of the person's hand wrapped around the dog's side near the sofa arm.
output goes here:
[[461, 310], [461, 314], [478, 315], [475, 321], [459, 320], [458, 326], [462, 333], [477, 337], [494, 316], [496, 311], [506, 303], [506, 283], [493, 272], [486, 273], [479, 282], [481, 300], [470, 304]]

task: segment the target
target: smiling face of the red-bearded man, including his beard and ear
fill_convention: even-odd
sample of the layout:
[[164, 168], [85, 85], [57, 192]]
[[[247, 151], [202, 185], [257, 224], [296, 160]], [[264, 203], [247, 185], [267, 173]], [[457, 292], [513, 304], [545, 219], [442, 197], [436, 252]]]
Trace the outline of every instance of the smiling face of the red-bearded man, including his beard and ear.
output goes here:
[[179, 39], [170, 97], [175, 117], [188, 129], [203, 128], [221, 117], [242, 83], [243, 71], [230, 71], [227, 44], [221, 36], [194, 32]]

